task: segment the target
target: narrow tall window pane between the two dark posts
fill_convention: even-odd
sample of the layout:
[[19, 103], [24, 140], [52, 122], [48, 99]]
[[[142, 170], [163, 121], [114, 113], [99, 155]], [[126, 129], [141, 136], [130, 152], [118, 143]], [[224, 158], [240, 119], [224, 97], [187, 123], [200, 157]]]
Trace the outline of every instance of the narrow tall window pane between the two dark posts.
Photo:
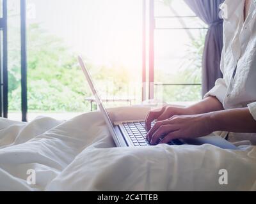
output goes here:
[[21, 120], [20, 1], [8, 0], [8, 119]]

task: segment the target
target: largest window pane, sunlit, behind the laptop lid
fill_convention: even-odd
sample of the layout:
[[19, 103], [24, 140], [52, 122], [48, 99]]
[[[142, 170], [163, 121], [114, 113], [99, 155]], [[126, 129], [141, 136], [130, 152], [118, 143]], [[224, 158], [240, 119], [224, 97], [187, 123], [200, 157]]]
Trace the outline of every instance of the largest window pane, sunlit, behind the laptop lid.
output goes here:
[[67, 119], [91, 110], [78, 54], [102, 98], [116, 99], [108, 105], [127, 105], [117, 99], [129, 94], [132, 103], [141, 99], [141, 1], [27, 2], [29, 120], [42, 114]]

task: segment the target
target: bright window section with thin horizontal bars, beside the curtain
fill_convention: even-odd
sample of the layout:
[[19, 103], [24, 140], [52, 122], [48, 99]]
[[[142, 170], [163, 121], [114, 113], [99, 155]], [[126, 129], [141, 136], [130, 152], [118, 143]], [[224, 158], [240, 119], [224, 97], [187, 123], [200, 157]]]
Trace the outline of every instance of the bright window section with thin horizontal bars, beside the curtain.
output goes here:
[[156, 20], [155, 82], [163, 84], [166, 102], [197, 101], [202, 98], [202, 54], [207, 26], [198, 17], [191, 17], [195, 14], [184, 1], [157, 2], [155, 14], [172, 18]]

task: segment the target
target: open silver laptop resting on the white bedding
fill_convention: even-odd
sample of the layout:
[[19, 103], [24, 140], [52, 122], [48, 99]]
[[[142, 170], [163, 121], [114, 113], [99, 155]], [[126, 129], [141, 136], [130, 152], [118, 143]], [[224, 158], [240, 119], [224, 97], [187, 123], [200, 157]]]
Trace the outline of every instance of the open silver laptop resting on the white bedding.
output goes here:
[[[104, 117], [104, 120], [108, 126], [109, 133], [113, 137], [116, 147], [145, 147], [149, 146], [150, 143], [147, 141], [147, 131], [145, 130], [145, 120], [129, 120], [113, 122], [109, 118], [109, 114], [104, 107], [102, 100], [100, 99], [99, 92], [97, 91], [95, 85], [93, 84], [92, 77], [84, 64], [83, 59], [78, 57], [79, 64], [83, 70], [83, 73], [88, 81], [90, 89], [92, 90], [95, 101], [99, 106], [100, 112]], [[152, 122], [154, 125], [154, 122]], [[205, 136], [201, 138], [193, 138], [189, 140], [172, 140], [169, 145], [202, 145], [204, 143], [209, 143], [221, 147], [223, 149], [238, 149], [235, 145], [228, 142], [227, 140], [221, 138], [220, 136]]]

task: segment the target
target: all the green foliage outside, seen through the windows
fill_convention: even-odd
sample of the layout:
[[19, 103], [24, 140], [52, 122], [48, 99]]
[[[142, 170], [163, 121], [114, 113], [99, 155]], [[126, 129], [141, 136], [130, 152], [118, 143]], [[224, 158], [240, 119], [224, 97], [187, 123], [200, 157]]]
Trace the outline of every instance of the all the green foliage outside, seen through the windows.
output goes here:
[[[173, 0], [161, 0], [172, 12]], [[180, 19], [180, 24], [185, 22]], [[156, 77], [163, 82], [201, 83], [202, 53], [205, 33], [195, 39], [189, 31], [191, 43], [179, 71], [175, 74], [157, 70]], [[9, 110], [19, 111], [21, 103], [20, 91], [20, 39], [19, 28], [10, 27], [12, 37], [9, 46], [8, 98]], [[65, 43], [56, 36], [44, 31], [40, 24], [28, 27], [28, 108], [29, 111], [40, 112], [84, 112], [90, 110], [84, 101], [91, 91], [84, 80], [84, 75], [77, 63], [77, 55], [70, 52]], [[124, 96], [129, 91], [127, 84], [140, 81], [140, 70], [112, 64], [111, 66], [92, 66], [88, 68], [97, 82], [99, 91], [108, 92], [108, 82], [113, 82], [113, 96]], [[165, 86], [164, 101], [196, 101], [201, 98], [200, 86]], [[138, 97], [139, 98], [139, 97]]]

